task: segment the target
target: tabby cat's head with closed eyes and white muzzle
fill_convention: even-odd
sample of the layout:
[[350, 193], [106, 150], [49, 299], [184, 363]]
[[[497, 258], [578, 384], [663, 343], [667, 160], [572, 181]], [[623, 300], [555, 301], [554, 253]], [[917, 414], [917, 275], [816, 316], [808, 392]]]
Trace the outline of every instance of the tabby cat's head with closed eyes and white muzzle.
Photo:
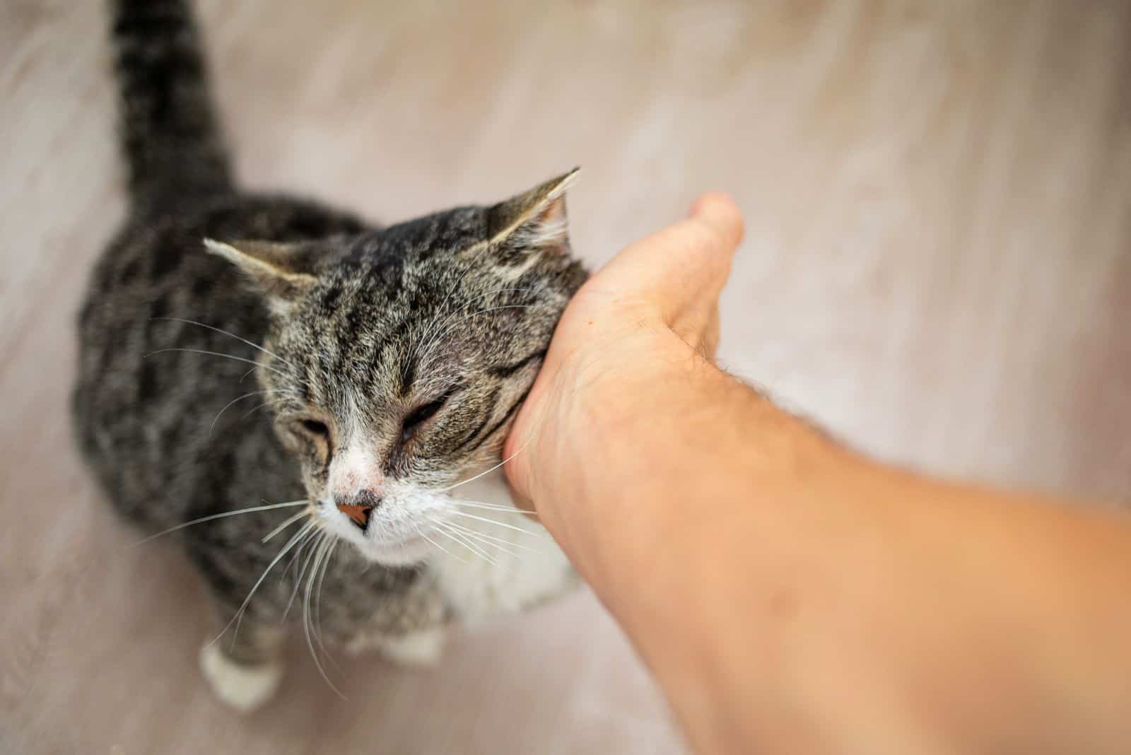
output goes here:
[[259, 375], [322, 523], [426, 557], [458, 484], [498, 465], [569, 297], [566, 186], [347, 238], [209, 241], [271, 312]]

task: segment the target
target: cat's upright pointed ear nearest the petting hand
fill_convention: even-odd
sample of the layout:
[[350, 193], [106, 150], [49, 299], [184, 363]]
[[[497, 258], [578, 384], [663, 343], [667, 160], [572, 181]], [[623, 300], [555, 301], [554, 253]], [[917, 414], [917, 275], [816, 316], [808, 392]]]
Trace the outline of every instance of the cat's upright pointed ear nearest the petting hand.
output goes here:
[[538, 257], [569, 253], [566, 190], [579, 170], [573, 168], [487, 210], [487, 248], [499, 264], [520, 275]]

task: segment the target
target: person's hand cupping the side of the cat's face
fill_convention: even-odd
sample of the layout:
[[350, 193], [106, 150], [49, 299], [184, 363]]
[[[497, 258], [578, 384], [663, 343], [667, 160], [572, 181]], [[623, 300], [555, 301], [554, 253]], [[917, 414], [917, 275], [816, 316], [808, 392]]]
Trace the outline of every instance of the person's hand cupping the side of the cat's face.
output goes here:
[[568, 472], [554, 468], [564, 442], [587, 432], [587, 411], [608, 401], [628, 411], [673, 368], [714, 358], [718, 296], [742, 233], [731, 198], [703, 194], [685, 219], [629, 245], [578, 290], [503, 450], [517, 501], [532, 507], [539, 486], [561, 484]]

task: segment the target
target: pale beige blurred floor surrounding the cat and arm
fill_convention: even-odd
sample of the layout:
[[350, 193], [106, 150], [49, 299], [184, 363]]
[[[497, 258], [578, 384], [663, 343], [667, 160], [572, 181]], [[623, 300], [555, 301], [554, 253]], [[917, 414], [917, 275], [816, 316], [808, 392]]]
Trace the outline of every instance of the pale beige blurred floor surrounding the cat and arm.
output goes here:
[[[1131, 497], [1128, 3], [202, 6], [249, 184], [396, 219], [580, 164], [595, 264], [727, 189], [733, 370], [887, 459]], [[102, 24], [0, 5], [0, 752], [679, 752], [588, 595], [434, 671], [344, 662], [347, 704], [301, 646], [261, 713], [209, 697], [200, 590], [130, 547], [69, 435], [123, 212]]]

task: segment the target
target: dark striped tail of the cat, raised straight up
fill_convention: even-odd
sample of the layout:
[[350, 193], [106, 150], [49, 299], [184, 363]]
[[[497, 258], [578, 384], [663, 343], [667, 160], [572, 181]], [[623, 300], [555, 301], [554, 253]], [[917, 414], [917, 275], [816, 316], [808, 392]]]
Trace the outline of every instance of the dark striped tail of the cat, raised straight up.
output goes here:
[[188, 0], [110, 0], [122, 150], [135, 205], [226, 192], [232, 167]]

